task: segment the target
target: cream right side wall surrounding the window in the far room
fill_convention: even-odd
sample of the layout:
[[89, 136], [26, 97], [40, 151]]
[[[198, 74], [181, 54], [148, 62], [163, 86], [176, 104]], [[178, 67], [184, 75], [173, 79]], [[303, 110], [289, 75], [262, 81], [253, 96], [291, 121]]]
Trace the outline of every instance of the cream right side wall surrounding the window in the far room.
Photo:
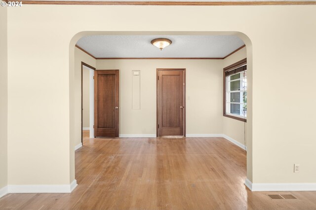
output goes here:
[[[246, 47], [238, 50], [236, 53], [228, 56], [223, 60], [223, 68], [222, 68], [222, 76], [223, 76], [223, 69], [228, 67], [244, 58], [247, 57]], [[223, 81], [223, 79], [222, 79]], [[233, 118], [223, 116], [223, 134], [226, 136], [237, 140], [239, 143], [246, 145], [246, 129], [247, 125], [245, 122], [236, 120]]]

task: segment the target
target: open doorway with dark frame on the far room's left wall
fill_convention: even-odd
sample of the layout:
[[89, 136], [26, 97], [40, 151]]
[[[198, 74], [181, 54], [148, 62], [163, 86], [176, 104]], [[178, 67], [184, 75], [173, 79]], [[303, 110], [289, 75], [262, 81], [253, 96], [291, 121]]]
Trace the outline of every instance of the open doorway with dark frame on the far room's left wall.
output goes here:
[[94, 70], [81, 62], [81, 143], [83, 136], [94, 138]]

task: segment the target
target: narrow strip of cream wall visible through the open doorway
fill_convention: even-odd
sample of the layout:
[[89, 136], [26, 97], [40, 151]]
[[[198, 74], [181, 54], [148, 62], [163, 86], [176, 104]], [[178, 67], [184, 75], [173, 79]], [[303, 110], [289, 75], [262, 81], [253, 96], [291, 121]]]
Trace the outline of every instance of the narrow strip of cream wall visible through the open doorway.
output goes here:
[[82, 127], [90, 127], [90, 68], [82, 70]]

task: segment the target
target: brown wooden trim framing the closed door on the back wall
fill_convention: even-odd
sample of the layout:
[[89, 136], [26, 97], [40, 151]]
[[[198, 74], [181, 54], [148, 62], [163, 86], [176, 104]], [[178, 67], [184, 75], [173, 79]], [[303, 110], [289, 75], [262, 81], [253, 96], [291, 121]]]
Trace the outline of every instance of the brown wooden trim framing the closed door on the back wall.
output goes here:
[[184, 80], [184, 86], [183, 86], [183, 105], [184, 105], [184, 112], [183, 112], [183, 136], [186, 137], [186, 112], [187, 112], [187, 105], [186, 105], [186, 86], [187, 86], [186, 69], [156, 69], [156, 136], [159, 137], [159, 129], [158, 129], [158, 121], [159, 121], [158, 75], [159, 75], [159, 70], [183, 71], [183, 80]]

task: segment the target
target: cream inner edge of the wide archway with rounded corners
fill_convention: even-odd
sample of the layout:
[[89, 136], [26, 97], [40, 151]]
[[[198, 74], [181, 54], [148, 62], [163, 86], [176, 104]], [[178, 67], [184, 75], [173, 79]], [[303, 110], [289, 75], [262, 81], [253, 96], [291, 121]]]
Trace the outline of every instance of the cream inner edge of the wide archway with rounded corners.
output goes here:
[[76, 103], [78, 97], [78, 85], [76, 83], [75, 55], [74, 49], [77, 41], [85, 35], [237, 35], [246, 45], [247, 51], [247, 129], [246, 129], [246, 147], [247, 147], [247, 178], [246, 185], [249, 187], [249, 181], [252, 181], [252, 44], [250, 38], [240, 32], [80, 32], [71, 39], [69, 45], [69, 81], [70, 81], [70, 179], [75, 179], [75, 152], [74, 146], [76, 137], [80, 136], [78, 116], [76, 111], [80, 110], [80, 104]]

